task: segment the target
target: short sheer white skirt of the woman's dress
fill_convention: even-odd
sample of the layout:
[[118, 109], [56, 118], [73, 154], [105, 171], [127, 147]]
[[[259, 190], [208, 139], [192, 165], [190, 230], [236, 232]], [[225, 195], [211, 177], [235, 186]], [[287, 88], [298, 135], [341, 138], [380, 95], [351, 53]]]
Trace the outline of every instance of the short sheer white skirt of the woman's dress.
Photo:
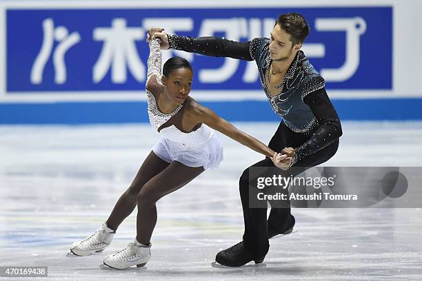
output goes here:
[[160, 141], [152, 147], [152, 151], [165, 162], [177, 161], [189, 167], [204, 169], [215, 169], [223, 160], [223, 145], [217, 134], [213, 134], [210, 140], [195, 149], [161, 137]]

